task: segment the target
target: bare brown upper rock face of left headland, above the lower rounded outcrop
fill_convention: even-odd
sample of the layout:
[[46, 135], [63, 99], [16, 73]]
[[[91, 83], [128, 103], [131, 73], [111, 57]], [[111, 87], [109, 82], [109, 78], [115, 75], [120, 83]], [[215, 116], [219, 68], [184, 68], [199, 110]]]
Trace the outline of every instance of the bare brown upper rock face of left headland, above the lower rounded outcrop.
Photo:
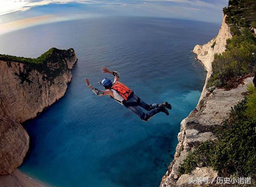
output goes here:
[[54, 75], [35, 69], [33, 64], [0, 60], [0, 99], [6, 114], [17, 122], [24, 122], [61, 98], [71, 81], [76, 60], [75, 53], [70, 51], [69, 58], [49, 61], [46, 67], [41, 67]]

